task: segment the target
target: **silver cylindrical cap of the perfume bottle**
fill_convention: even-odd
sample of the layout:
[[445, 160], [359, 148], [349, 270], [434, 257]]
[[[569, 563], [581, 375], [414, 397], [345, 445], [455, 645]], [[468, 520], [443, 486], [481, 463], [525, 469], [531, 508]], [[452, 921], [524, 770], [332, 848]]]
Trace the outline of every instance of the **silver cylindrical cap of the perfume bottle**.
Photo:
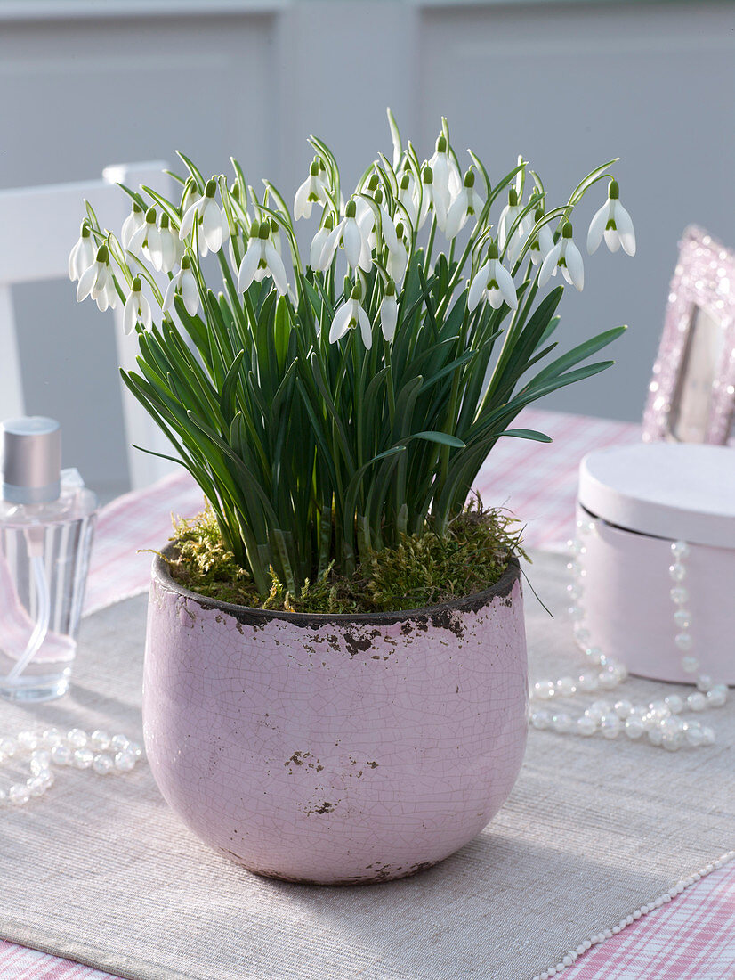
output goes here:
[[2, 496], [12, 504], [45, 504], [61, 494], [62, 429], [54, 418], [0, 423]]

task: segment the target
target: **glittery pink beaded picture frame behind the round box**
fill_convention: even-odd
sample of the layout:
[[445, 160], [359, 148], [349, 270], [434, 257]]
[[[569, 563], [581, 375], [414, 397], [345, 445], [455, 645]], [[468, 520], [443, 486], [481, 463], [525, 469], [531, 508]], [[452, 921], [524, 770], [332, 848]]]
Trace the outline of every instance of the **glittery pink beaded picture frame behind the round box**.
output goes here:
[[735, 412], [735, 252], [690, 225], [668, 292], [645, 442], [724, 445]]

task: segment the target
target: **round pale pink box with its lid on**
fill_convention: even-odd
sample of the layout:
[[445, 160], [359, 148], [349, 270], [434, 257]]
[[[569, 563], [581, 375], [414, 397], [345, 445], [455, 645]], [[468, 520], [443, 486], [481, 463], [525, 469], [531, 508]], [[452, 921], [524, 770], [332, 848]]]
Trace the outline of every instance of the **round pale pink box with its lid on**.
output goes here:
[[[631, 673], [692, 683], [674, 644], [677, 608], [698, 673], [735, 684], [735, 450], [692, 443], [641, 443], [599, 450], [579, 466], [580, 600], [589, 639]], [[674, 606], [671, 544], [690, 546]]]

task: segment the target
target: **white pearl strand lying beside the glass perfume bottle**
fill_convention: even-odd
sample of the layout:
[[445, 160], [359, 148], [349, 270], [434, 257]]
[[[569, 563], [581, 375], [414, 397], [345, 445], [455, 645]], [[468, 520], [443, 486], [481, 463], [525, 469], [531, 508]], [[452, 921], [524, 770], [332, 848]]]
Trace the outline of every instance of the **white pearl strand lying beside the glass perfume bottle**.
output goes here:
[[0, 762], [24, 755], [29, 757], [30, 776], [7, 791], [0, 789], [0, 804], [20, 807], [32, 797], [43, 796], [55, 782], [55, 766], [91, 768], [100, 776], [129, 772], [143, 750], [125, 735], [99, 730], [88, 735], [81, 728], [72, 728], [66, 735], [58, 728], [48, 728], [40, 734], [22, 731], [15, 738], [0, 738]]

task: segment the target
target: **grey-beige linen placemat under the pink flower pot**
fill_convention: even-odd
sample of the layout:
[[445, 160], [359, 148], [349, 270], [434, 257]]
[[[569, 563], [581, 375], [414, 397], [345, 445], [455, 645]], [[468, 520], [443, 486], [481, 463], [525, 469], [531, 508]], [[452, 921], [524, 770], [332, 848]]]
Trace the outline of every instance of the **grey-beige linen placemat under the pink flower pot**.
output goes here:
[[[564, 606], [560, 556], [531, 581]], [[530, 673], [574, 671], [564, 615], [526, 588]], [[3, 704], [0, 733], [58, 725], [140, 737], [144, 597], [83, 624], [71, 693]], [[628, 700], [680, 690], [633, 680]], [[181, 826], [146, 765], [64, 770], [42, 799], [4, 809], [0, 935], [132, 980], [530, 980], [590, 935], [733, 847], [735, 711], [717, 743], [662, 749], [531, 731], [518, 784], [480, 837], [405, 881], [316, 888], [268, 881]]]

